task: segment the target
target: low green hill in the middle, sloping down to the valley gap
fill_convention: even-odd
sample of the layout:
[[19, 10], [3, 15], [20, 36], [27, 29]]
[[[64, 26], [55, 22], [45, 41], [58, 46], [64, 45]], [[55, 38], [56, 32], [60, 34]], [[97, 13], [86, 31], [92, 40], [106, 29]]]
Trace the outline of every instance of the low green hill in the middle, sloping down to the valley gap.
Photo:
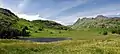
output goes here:
[[51, 29], [59, 29], [59, 30], [67, 30], [70, 29], [67, 26], [61, 25], [59, 23], [56, 23], [54, 21], [49, 20], [33, 20], [31, 21], [36, 26], [43, 27], [43, 28], [51, 28]]

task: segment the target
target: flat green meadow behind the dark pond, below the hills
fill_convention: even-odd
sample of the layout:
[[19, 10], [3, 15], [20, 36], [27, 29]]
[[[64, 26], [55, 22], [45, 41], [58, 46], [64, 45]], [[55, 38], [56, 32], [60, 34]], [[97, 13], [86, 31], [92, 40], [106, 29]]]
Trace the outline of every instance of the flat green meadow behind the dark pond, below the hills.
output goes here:
[[[52, 33], [51, 33], [52, 32]], [[116, 36], [115, 34], [108, 33], [108, 35], [102, 35], [98, 30], [71, 30], [71, 31], [65, 31], [65, 30], [47, 30], [47, 31], [41, 31], [38, 33], [31, 33], [32, 38], [41, 38], [41, 37], [64, 37], [64, 38], [72, 38], [74, 40], [78, 39], [102, 39], [106, 38], [108, 36]], [[119, 36], [119, 35], [117, 35]]]

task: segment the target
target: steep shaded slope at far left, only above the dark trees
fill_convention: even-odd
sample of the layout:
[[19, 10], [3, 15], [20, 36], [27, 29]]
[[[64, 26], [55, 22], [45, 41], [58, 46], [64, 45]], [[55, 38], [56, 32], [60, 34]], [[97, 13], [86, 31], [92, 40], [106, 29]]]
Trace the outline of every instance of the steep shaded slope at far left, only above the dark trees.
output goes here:
[[7, 9], [0, 8], [0, 26], [9, 27], [18, 21], [18, 17]]

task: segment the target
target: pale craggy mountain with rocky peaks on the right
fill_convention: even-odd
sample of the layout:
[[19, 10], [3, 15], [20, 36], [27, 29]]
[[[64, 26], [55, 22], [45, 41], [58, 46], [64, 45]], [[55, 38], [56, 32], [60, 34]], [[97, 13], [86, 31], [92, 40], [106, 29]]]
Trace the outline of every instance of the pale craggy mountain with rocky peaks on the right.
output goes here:
[[95, 18], [78, 19], [72, 26], [73, 29], [104, 29], [112, 33], [120, 34], [120, 17], [106, 17], [98, 15]]

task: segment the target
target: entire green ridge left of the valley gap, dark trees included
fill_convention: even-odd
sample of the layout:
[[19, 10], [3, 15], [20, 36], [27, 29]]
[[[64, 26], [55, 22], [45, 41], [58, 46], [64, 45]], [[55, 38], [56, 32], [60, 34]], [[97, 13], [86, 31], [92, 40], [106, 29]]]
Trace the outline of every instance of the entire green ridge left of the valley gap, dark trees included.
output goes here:
[[70, 28], [49, 20], [29, 21], [19, 18], [8, 9], [0, 8], [0, 38], [30, 36], [30, 33], [43, 31], [43, 29], [68, 30]]

